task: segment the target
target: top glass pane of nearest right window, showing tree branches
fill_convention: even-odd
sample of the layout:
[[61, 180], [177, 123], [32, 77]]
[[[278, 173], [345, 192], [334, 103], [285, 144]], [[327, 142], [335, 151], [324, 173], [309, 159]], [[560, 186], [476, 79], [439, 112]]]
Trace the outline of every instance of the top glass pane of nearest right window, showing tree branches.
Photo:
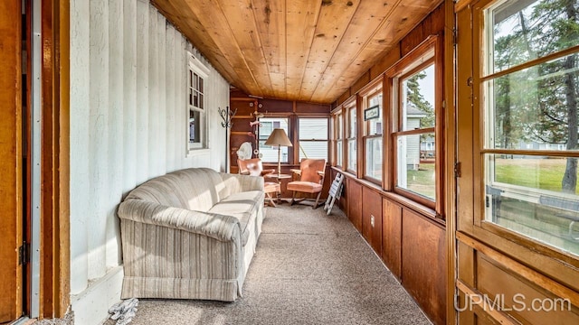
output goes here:
[[[568, 11], [569, 4], [574, 10]], [[506, 70], [579, 44], [577, 3], [500, 1], [485, 11], [489, 38], [485, 74]]]

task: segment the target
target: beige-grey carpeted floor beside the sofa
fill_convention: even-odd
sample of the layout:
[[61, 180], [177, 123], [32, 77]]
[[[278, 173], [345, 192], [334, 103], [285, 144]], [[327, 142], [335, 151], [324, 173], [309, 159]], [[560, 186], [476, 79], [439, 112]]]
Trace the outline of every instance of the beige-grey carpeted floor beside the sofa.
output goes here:
[[140, 300], [131, 324], [431, 323], [344, 213], [284, 203], [267, 208], [242, 299]]

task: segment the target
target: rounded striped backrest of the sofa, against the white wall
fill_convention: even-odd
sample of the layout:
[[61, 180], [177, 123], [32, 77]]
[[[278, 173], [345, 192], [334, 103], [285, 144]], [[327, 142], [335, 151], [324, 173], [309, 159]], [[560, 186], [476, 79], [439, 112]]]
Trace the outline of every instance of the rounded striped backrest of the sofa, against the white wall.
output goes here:
[[223, 179], [209, 168], [170, 172], [139, 185], [125, 200], [138, 199], [181, 209], [207, 211], [219, 201]]

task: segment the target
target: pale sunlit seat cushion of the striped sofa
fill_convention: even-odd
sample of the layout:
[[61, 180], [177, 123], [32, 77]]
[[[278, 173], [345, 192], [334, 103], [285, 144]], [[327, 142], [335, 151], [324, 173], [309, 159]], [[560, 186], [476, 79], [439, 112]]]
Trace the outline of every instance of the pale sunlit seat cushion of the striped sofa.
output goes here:
[[209, 209], [209, 212], [238, 218], [242, 233], [242, 246], [245, 246], [247, 238], [252, 231], [252, 229], [247, 228], [247, 225], [254, 218], [259, 206], [262, 204], [261, 202], [263, 202], [263, 192], [261, 190], [233, 193], [215, 204], [212, 209]]

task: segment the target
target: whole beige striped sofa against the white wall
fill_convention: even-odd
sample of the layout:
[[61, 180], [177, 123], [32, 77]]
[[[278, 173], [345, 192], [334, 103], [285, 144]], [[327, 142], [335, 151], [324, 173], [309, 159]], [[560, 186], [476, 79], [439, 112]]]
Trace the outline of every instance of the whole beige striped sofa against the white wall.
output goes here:
[[119, 205], [121, 298], [242, 296], [263, 220], [263, 179], [192, 168], [131, 190]]

